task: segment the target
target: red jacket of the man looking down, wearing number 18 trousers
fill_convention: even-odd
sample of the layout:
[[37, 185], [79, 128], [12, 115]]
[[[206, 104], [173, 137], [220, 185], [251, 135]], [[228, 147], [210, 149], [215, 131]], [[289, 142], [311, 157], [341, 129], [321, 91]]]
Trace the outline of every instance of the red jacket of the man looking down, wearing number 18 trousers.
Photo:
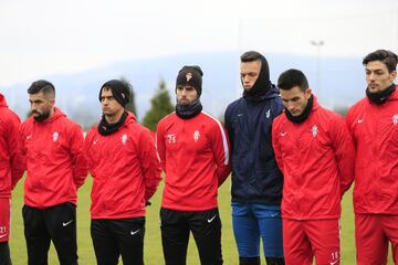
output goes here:
[[302, 124], [285, 114], [272, 125], [272, 142], [283, 172], [282, 216], [336, 219], [341, 198], [354, 180], [355, 149], [344, 119], [321, 106]]

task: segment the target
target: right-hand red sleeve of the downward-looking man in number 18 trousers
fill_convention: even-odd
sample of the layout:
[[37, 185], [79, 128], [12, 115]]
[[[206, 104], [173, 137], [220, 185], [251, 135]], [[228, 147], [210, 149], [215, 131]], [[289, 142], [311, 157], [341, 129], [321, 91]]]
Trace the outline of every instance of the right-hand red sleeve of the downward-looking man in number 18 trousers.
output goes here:
[[352, 135], [343, 118], [338, 117], [331, 126], [333, 149], [336, 153], [341, 192], [343, 194], [349, 189], [354, 181], [355, 172], [355, 147]]

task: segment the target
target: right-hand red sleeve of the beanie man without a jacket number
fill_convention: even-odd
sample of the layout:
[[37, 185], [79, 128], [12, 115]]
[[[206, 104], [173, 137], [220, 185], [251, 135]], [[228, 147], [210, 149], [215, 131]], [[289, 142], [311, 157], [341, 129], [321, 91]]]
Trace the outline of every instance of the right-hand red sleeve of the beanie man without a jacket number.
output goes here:
[[138, 145], [145, 183], [145, 200], [148, 201], [155, 194], [161, 180], [161, 168], [156, 153], [154, 135], [147, 128], [143, 129]]

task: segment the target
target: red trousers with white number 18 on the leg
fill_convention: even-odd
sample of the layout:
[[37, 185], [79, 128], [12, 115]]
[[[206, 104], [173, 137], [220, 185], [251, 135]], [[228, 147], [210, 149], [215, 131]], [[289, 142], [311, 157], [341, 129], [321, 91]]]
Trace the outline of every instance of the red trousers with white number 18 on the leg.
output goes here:
[[339, 219], [283, 219], [283, 251], [285, 264], [339, 264]]

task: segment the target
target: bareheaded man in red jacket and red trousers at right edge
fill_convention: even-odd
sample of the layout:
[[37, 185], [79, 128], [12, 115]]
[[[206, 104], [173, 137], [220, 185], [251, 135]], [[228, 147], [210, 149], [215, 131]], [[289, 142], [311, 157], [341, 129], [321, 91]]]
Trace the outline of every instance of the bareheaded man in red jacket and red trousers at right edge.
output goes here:
[[398, 264], [397, 54], [378, 50], [363, 61], [366, 97], [347, 114], [357, 150], [354, 212], [357, 264], [387, 264], [388, 242]]

